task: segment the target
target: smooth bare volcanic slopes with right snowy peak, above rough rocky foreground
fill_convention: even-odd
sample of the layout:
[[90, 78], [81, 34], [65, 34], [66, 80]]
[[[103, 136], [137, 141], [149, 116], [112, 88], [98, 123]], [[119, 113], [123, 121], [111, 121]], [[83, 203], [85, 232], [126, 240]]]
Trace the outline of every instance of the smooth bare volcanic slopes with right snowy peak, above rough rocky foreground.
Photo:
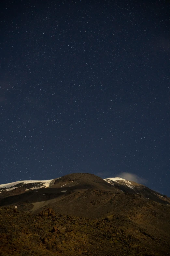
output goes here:
[[[40, 213], [50, 207], [61, 214], [99, 218], [107, 213], [121, 211], [122, 208], [129, 211], [133, 207], [131, 199], [134, 196], [144, 204], [150, 199], [170, 204], [168, 198], [160, 197], [143, 185], [121, 178], [114, 179], [103, 180], [88, 173], [69, 174], [52, 182], [50, 180], [47, 188], [35, 189], [34, 186], [34, 189], [25, 189], [24, 193], [22, 191], [21, 194], [2, 197], [0, 206], [13, 205], [18, 210], [32, 213]], [[129, 196], [125, 196], [124, 192], [129, 193]]]

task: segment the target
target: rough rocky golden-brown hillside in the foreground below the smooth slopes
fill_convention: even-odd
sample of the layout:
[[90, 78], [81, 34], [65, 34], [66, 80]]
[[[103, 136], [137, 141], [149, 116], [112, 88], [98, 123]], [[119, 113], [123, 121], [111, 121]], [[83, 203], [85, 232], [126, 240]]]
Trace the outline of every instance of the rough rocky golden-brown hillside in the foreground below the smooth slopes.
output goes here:
[[165, 219], [169, 208], [162, 211], [157, 216], [153, 210], [149, 223], [142, 212], [90, 219], [56, 214], [49, 208], [31, 214], [2, 207], [0, 255], [170, 255], [170, 222]]

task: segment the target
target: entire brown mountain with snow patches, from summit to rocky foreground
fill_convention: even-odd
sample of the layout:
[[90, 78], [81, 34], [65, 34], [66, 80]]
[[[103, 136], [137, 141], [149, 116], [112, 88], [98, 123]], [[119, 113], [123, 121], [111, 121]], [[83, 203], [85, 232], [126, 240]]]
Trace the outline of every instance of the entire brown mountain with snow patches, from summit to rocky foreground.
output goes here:
[[0, 185], [0, 255], [170, 255], [170, 198], [73, 173]]

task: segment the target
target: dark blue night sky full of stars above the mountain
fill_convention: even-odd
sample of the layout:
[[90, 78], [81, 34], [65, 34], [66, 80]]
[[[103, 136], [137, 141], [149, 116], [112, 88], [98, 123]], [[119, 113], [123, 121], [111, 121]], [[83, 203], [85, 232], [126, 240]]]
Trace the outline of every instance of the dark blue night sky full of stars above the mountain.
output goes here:
[[0, 10], [0, 184], [127, 173], [170, 196], [169, 2]]

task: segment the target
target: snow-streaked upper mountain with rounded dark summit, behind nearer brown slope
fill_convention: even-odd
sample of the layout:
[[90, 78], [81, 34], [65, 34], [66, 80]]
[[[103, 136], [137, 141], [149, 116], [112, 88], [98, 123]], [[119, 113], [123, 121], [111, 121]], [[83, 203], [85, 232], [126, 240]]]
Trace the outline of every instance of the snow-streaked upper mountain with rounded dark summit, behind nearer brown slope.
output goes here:
[[44, 202], [44, 206], [51, 204], [50, 199], [57, 200], [57, 198], [76, 192], [82, 193], [89, 189], [120, 194], [130, 193], [162, 204], [170, 204], [166, 196], [134, 181], [119, 177], [102, 179], [90, 173], [73, 173], [57, 179], [22, 180], [2, 184], [0, 185], [0, 205], [18, 204], [17, 207], [21, 209], [21, 202], [27, 201], [32, 204], [39, 200]]

